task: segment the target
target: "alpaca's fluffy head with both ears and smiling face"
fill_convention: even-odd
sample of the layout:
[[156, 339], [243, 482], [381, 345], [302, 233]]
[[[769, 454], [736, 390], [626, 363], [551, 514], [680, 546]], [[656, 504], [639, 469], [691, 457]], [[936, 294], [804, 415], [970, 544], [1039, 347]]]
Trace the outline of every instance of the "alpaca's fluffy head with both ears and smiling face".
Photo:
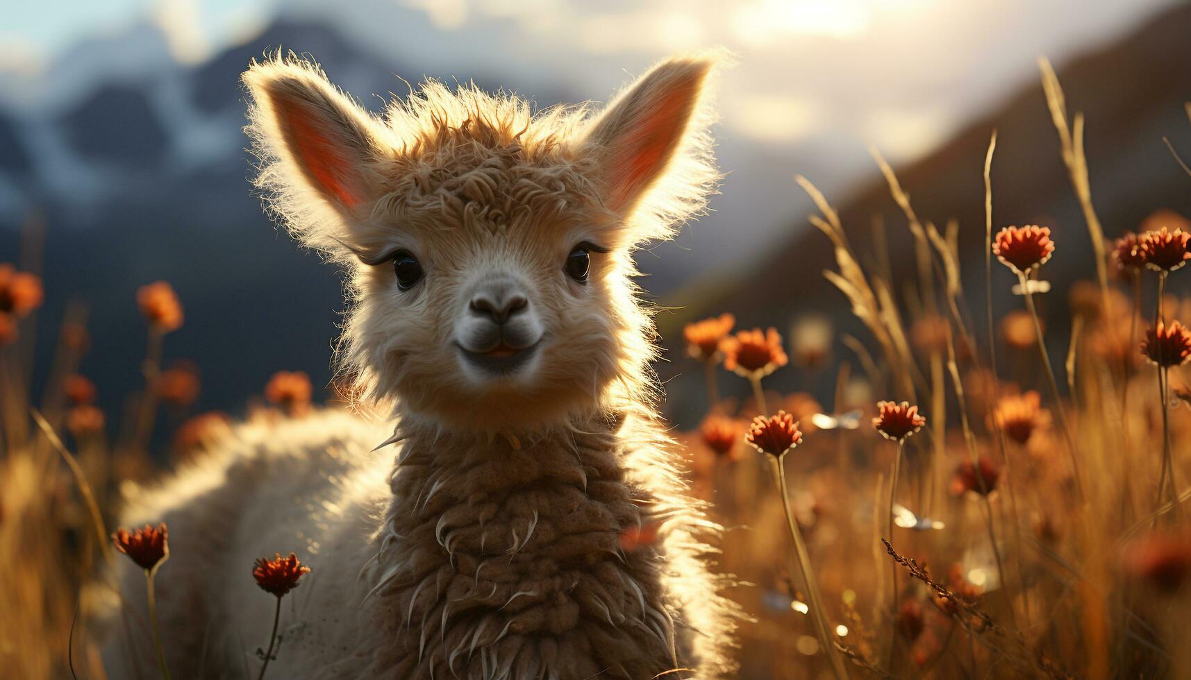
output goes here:
[[651, 331], [631, 255], [713, 186], [712, 65], [662, 62], [600, 112], [430, 81], [378, 118], [311, 63], [252, 64], [257, 185], [349, 268], [339, 358], [363, 393], [487, 430], [641, 397]]

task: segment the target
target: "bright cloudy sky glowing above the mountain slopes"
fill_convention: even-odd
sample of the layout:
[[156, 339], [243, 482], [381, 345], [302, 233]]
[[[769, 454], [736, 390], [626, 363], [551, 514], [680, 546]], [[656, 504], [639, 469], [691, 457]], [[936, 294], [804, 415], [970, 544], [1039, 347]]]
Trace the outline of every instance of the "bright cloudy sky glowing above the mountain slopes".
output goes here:
[[279, 14], [326, 21], [394, 64], [424, 69], [397, 74], [410, 81], [480, 71], [515, 91], [562, 89], [580, 100], [606, 100], [668, 54], [724, 46], [736, 60], [718, 87], [716, 137], [727, 179], [712, 207], [724, 213], [699, 243], [679, 243], [698, 248], [701, 260], [691, 266], [703, 266], [717, 249], [736, 260], [780, 239], [791, 217], [805, 213], [796, 174], [842, 202], [875, 173], [872, 146], [894, 167], [908, 163], [1036, 83], [1039, 56], [1061, 68], [1174, 1], [12, 2], [0, 25], [0, 76], [8, 70], [36, 80], [77, 40], [118, 36], [146, 20], [166, 33], [175, 60], [197, 63]]

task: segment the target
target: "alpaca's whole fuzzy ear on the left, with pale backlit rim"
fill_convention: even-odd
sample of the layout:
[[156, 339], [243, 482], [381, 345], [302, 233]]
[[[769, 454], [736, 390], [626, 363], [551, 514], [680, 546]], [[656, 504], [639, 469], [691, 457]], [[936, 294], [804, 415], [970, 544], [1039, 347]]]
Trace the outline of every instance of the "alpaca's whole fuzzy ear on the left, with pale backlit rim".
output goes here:
[[350, 223], [381, 195], [379, 166], [392, 152], [384, 131], [308, 62], [254, 62], [243, 82], [252, 95], [247, 131], [261, 158], [256, 183], [270, 207], [307, 245], [354, 249]]

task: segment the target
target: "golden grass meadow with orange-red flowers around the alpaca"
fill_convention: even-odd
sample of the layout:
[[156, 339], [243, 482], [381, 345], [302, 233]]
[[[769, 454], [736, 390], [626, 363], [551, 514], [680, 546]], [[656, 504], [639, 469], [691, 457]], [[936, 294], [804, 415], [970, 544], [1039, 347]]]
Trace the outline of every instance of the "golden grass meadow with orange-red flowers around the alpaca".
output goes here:
[[[741, 678], [1191, 675], [1180, 644], [1191, 630], [1191, 331], [1179, 323], [1191, 306], [1166, 293], [1168, 279], [1191, 276], [1191, 223], [1154, 206], [1136, 233], [1105, 233], [1083, 119], [1046, 67], [1043, 85], [1096, 252], [1072, 288], [1064, 355], [1052, 355], [1036, 308], [1064, 242], [1046, 225], [997, 222], [994, 132], [984, 291], [960, 283], [960, 262], [972, 258], [958, 250], [958, 226], [919, 220], [878, 155], [915, 245], [910, 281], [890, 280], [886, 254], [858, 251], [830, 199], [797, 179], [818, 207], [811, 223], [835, 247], [822, 267], [868, 331], [842, 338], [842, 362], [824, 364], [835, 338], [813, 320], [790, 338], [737, 329], [730, 313], [686, 326], [688, 369], [705, 373], [711, 406], [674, 437], [690, 484], [725, 528], [717, 569], [737, 579], [731, 597], [753, 619], [740, 629]], [[13, 678], [104, 678], [95, 612], [145, 597], [106, 575], [137, 550], [129, 536], [112, 539], [120, 498], [206, 455], [233, 419], [192, 413], [197, 370], [163, 366], [169, 333], [185, 324], [185, 300], [167, 282], [129, 301], [144, 317], [146, 349], [144, 387], [124, 412], [100, 411], [102, 386], [79, 373], [81, 307], [54, 343], [44, 394], [31, 394], [37, 308], [54, 282], [23, 269], [0, 266], [0, 610], [15, 612], [0, 617], [0, 667]], [[1019, 305], [994, 310], [993, 287], [1010, 286]], [[833, 398], [768, 391], [766, 379], [790, 363], [836, 372]], [[721, 399], [730, 380], [753, 397]], [[332, 388], [314, 405], [301, 373], [261, 387], [248, 419], [353, 400]], [[647, 528], [622, 542], [650, 539]], [[268, 591], [269, 569], [285, 566], [244, 564], [245, 579], [254, 567]], [[168, 560], [146, 573], [169, 587]], [[274, 606], [268, 593], [258, 606]], [[154, 644], [152, 622], [123, 625], [130, 644]]]

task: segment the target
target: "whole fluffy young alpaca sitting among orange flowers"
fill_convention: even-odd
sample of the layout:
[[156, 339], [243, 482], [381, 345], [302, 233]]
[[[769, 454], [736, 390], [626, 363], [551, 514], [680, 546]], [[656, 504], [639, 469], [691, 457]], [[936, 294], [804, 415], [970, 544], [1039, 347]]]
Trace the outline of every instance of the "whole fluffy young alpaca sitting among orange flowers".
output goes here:
[[[278, 550], [313, 570], [283, 600], [270, 676], [734, 672], [718, 526], [654, 411], [632, 283], [634, 250], [718, 180], [716, 61], [665, 61], [598, 112], [429, 81], [384, 118], [293, 55], [250, 65], [256, 185], [348, 270], [337, 360], [384, 417], [249, 422], [130, 500], [124, 524], [169, 525], [157, 606], [175, 676], [257, 673], [273, 606], [250, 567]], [[136, 606], [143, 579], [121, 567]], [[139, 651], [113, 641], [112, 676], [138, 656], [154, 673]]]

